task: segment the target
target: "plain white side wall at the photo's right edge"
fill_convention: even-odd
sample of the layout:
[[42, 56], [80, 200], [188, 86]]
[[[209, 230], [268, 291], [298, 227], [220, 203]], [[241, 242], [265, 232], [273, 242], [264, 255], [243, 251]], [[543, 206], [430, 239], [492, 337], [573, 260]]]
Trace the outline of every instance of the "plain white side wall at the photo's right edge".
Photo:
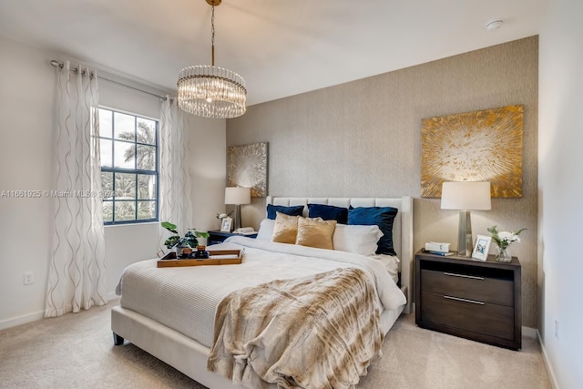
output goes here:
[[561, 389], [583, 383], [581, 16], [580, 0], [552, 0], [539, 40], [539, 332]]

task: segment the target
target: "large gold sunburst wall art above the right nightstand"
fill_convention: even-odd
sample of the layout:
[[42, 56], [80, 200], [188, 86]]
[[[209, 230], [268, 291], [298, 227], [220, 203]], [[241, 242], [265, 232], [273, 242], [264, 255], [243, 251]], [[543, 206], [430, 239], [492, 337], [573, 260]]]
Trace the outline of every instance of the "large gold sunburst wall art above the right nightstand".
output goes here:
[[489, 181], [492, 197], [522, 197], [524, 107], [436, 118], [421, 127], [421, 197], [441, 197], [444, 181]]

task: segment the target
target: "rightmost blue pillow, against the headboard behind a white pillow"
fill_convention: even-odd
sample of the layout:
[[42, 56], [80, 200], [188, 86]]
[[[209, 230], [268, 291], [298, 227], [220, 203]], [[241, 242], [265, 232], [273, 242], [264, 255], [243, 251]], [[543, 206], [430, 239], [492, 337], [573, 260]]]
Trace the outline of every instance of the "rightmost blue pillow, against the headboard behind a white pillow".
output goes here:
[[379, 226], [384, 235], [378, 242], [376, 253], [396, 255], [393, 246], [393, 222], [398, 211], [393, 207], [351, 207], [348, 210], [348, 224]]

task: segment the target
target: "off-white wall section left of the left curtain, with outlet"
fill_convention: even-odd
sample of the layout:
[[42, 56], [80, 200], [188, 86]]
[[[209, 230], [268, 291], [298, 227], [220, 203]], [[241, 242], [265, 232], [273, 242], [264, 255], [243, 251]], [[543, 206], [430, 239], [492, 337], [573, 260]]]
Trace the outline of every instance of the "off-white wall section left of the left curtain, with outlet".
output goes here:
[[[55, 69], [46, 53], [2, 37], [0, 53], [0, 192], [50, 189]], [[45, 311], [50, 204], [0, 197], [0, 329]], [[25, 271], [35, 283], [24, 285]]]

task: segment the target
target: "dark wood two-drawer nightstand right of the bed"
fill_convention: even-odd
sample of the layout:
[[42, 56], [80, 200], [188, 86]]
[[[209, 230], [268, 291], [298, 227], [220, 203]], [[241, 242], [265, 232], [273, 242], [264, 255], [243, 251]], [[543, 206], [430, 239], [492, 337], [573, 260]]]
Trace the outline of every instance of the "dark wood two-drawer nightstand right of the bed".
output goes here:
[[415, 322], [429, 330], [510, 349], [522, 347], [521, 267], [415, 254]]

